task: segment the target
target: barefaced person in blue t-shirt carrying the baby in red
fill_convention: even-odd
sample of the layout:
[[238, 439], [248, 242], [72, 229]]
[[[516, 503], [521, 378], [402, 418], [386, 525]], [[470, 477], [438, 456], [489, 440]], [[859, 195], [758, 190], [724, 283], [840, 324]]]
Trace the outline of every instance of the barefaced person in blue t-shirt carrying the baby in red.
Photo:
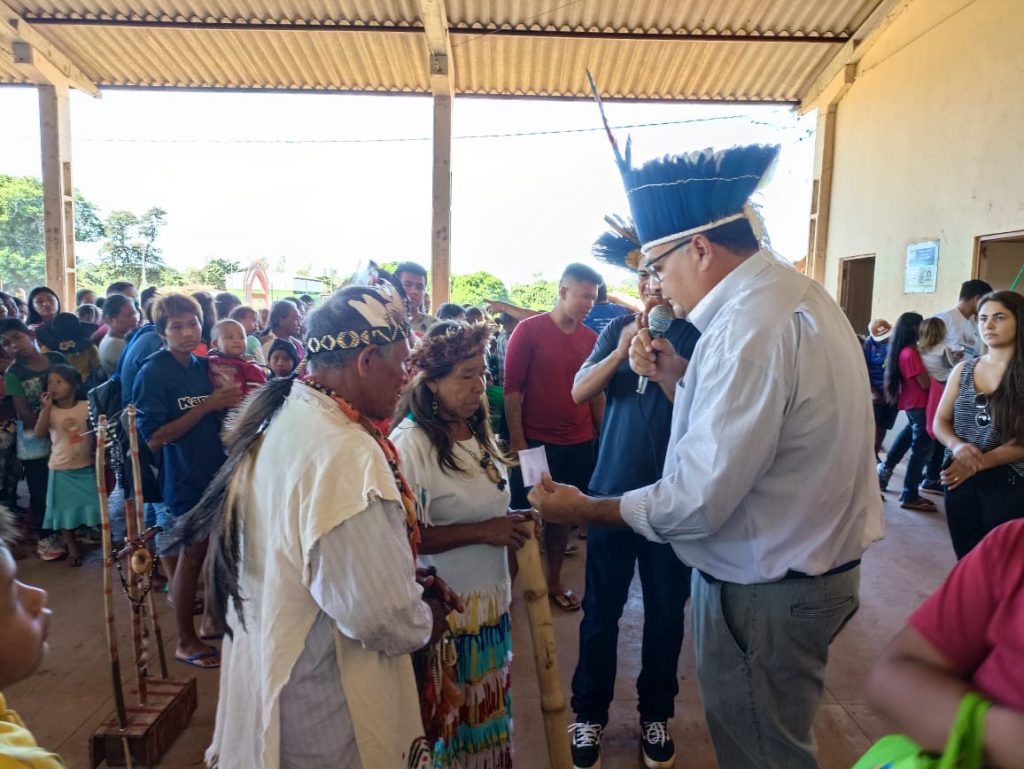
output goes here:
[[[206, 358], [193, 353], [202, 341], [203, 329], [203, 310], [195, 299], [168, 294], [160, 299], [153, 316], [166, 347], [146, 358], [139, 370], [132, 400], [138, 409], [139, 435], [160, 456], [164, 504], [169, 517], [176, 520], [200, 501], [224, 463], [221, 418], [224, 410], [239, 402], [242, 392], [233, 384], [215, 390]], [[161, 544], [158, 538], [178, 626], [174, 656], [197, 668], [217, 668], [219, 655], [197, 635], [193, 618], [206, 544], [180, 553], [164, 552]]]

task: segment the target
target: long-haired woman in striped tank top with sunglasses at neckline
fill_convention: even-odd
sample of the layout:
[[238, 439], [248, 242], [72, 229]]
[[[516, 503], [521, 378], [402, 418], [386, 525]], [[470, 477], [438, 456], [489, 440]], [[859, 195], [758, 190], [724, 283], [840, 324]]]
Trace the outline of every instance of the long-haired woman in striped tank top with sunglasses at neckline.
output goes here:
[[935, 415], [946, 446], [942, 483], [953, 550], [963, 558], [988, 531], [1024, 517], [1024, 297], [986, 294], [978, 331], [988, 346], [950, 373]]

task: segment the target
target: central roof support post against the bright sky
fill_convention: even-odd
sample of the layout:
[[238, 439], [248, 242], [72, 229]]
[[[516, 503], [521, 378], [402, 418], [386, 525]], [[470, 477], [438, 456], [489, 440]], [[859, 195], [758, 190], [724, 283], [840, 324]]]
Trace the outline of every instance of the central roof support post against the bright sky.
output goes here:
[[452, 97], [434, 95], [434, 171], [430, 224], [430, 297], [433, 309], [452, 295]]

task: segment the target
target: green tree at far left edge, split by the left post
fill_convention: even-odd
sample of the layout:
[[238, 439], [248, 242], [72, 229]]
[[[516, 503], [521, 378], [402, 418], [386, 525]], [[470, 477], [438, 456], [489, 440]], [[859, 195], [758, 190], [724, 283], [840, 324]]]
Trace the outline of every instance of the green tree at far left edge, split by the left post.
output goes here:
[[[0, 287], [5, 291], [28, 291], [46, 282], [43, 226], [42, 181], [0, 174]], [[96, 207], [76, 189], [75, 240], [91, 243], [101, 236]]]

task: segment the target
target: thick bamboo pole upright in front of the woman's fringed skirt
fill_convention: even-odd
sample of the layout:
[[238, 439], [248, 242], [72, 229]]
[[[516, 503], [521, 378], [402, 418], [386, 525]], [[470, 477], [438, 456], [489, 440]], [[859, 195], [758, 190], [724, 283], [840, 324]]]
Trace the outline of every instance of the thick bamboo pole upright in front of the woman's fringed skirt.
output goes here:
[[534, 642], [534, 663], [541, 689], [544, 733], [548, 740], [548, 764], [551, 769], [572, 769], [565, 721], [565, 696], [558, 676], [555, 629], [551, 624], [551, 606], [548, 603], [548, 583], [541, 567], [541, 549], [535, 533], [530, 535], [515, 555], [519, 564], [519, 584], [526, 601], [529, 637]]

